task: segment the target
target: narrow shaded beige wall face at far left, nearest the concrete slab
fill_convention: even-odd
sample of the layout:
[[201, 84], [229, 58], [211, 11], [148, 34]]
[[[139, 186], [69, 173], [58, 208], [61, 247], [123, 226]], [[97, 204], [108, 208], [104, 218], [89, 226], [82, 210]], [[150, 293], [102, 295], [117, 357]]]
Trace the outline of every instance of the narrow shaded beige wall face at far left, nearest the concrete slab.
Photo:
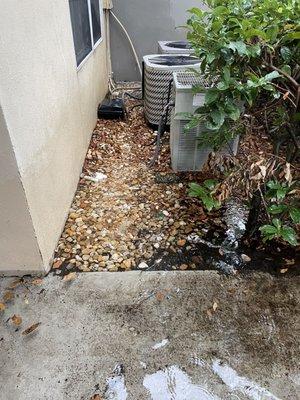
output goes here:
[[42, 257], [1, 108], [0, 254], [2, 273], [36, 272], [42, 268]]

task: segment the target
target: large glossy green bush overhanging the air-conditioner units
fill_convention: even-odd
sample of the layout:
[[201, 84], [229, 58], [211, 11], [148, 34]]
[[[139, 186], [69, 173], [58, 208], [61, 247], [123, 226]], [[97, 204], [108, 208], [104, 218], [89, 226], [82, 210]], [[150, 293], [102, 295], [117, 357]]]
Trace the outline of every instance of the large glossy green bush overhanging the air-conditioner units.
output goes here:
[[[239, 134], [243, 119], [261, 116], [276, 151], [286, 140], [299, 152], [300, 3], [298, 0], [207, 0], [189, 10], [188, 39], [208, 85], [190, 115], [204, 123], [201, 145], [214, 149]], [[278, 118], [280, 116], [280, 118]]]

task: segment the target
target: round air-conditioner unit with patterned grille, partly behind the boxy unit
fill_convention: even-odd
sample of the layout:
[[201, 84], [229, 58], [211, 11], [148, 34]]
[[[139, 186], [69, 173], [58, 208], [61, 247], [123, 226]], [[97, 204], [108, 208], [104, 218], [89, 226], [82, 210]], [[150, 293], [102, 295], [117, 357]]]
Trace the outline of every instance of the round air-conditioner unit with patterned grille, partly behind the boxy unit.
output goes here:
[[[157, 126], [168, 101], [173, 72], [200, 67], [196, 57], [185, 54], [152, 54], [144, 57], [144, 110], [149, 124]], [[170, 117], [168, 118], [168, 124]]]

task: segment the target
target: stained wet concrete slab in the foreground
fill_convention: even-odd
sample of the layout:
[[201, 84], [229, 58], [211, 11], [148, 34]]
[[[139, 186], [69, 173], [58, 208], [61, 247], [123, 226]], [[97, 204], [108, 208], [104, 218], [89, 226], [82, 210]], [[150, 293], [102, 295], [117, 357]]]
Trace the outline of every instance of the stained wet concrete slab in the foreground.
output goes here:
[[[1, 313], [0, 399], [300, 398], [297, 276], [132, 271], [32, 279], [10, 290]], [[12, 281], [0, 281], [1, 297]], [[20, 326], [9, 320], [14, 314]]]

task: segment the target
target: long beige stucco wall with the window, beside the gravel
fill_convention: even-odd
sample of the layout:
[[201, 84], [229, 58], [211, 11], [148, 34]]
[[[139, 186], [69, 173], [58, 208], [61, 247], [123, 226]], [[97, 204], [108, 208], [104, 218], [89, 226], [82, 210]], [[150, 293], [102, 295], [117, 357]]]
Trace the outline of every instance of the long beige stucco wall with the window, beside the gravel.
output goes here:
[[0, 0], [0, 59], [1, 104], [47, 269], [107, 92], [105, 41], [77, 71], [68, 0]]

